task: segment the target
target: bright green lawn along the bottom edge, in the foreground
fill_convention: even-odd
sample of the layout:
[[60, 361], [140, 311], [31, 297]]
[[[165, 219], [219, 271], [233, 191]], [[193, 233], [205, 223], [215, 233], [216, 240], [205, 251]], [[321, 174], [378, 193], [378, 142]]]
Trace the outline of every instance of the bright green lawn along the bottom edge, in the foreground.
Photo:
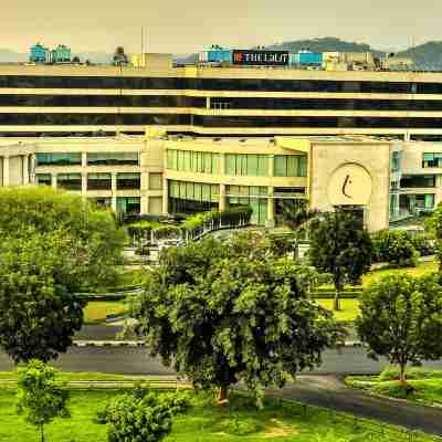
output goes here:
[[[71, 391], [71, 419], [56, 419], [46, 425], [48, 441], [56, 442], [105, 442], [106, 425], [93, 422], [96, 412], [103, 409], [116, 391]], [[243, 394], [231, 396], [231, 403], [220, 408], [213, 404], [212, 394], [191, 394], [191, 408], [173, 419], [172, 432], [164, 442], [365, 442], [376, 440], [408, 441], [398, 439], [393, 428], [380, 429], [354, 419], [345, 420], [325, 410], [312, 408], [307, 414], [297, 403], [280, 403], [267, 400], [263, 410], [257, 410]], [[0, 441], [31, 442], [38, 440], [35, 429], [17, 415], [12, 391], [0, 391]], [[371, 435], [372, 439], [369, 439]], [[415, 441], [432, 441], [422, 435]]]

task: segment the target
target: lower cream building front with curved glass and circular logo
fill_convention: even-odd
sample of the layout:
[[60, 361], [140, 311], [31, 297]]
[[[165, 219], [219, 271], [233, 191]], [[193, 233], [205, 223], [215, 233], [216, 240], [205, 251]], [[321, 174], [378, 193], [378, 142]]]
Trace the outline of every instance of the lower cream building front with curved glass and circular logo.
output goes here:
[[52, 186], [124, 213], [235, 206], [273, 227], [307, 199], [364, 209], [370, 231], [442, 201], [442, 143], [373, 137], [207, 138], [150, 133], [0, 140], [0, 185]]

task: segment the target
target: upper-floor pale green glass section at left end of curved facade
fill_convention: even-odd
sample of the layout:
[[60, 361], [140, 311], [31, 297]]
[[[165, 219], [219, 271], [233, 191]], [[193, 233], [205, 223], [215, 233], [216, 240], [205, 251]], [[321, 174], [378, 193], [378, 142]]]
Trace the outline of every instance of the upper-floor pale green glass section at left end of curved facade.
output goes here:
[[167, 150], [167, 168], [185, 172], [219, 175], [220, 155], [192, 150]]

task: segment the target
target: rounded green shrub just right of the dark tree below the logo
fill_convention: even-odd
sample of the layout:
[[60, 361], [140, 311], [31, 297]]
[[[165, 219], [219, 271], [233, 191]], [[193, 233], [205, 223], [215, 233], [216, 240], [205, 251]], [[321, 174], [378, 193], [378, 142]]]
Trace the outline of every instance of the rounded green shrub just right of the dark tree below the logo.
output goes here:
[[414, 267], [417, 252], [411, 235], [403, 230], [382, 230], [372, 235], [373, 261], [398, 267]]

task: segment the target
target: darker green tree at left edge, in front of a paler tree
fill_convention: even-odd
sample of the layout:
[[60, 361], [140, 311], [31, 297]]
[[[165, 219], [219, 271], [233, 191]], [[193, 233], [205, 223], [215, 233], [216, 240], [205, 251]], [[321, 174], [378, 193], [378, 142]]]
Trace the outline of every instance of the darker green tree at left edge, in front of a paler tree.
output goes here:
[[28, 233], [0, 242], [0, 347], [15, 362], [49, 361], [82, 326], [85, 302], [73, 292], [82, 256], [64, 231]]

